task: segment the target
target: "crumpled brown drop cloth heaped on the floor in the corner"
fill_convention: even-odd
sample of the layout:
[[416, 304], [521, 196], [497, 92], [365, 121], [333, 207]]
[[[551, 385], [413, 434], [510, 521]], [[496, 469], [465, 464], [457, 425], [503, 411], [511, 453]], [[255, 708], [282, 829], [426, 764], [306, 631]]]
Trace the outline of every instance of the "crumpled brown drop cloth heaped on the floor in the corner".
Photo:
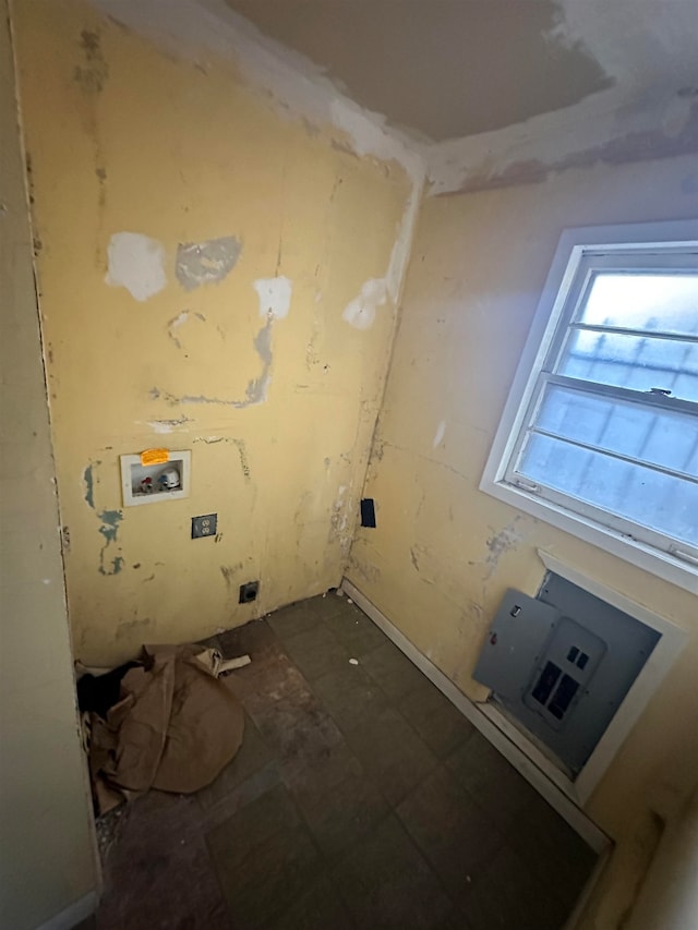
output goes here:
[[146, 645], [106, 720], [91, 715], [89, 770], [100, 812], [148, 788], [196, 792], [242, 742], [242, 705], [200, 645]]

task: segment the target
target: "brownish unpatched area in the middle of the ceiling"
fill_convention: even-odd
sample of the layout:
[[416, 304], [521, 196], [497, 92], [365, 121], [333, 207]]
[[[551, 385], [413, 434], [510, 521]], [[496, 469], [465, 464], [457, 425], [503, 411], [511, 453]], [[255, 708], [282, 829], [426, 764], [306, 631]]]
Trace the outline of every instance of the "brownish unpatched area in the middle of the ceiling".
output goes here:
[[418, 137], [501, 129], [613, 83], [583, 41], [559, 29], [555, 0], [400, 0], [399, 9], [395, 0], [226, 2]]

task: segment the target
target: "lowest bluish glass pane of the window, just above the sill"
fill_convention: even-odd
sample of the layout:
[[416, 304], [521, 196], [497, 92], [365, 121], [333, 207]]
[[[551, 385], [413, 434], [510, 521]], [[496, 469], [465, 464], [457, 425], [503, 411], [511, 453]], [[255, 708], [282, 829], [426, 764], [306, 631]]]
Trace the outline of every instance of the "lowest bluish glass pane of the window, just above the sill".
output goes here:
[[698, 545], [698, 484], [530, 434], [517, 473], [640, 526]]

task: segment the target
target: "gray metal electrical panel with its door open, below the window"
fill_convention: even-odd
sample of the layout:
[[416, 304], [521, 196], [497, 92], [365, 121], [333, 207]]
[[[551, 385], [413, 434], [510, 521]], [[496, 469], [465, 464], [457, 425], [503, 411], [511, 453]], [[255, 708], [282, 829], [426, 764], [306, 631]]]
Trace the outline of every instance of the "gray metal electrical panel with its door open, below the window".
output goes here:
[[506, 592], [474, 678], [574, 777], [659, 638], [634, 617], [549, 573], [538, 597]]

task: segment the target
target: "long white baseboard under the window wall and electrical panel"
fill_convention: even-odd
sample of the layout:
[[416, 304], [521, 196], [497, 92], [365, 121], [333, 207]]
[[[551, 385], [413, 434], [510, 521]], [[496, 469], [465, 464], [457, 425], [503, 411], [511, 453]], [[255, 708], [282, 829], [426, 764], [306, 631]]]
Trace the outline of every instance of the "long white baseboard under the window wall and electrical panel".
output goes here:
[[[476, 726], [480, 733], [497, 749], [504, 758], [529, 782], [535, 790], [557, 811], [571, 829], [599, 855], [607, 852], [612, 845], [609, 836], [591, 821], [575, 801], [556, 785], [517, 746], [504, 729], [493, 722], [490, 705], [484, 712], [479, 704], [467, 698], [431, 660], [421, 653], [410, 640], [374, 606], [347, 578], [341, 582], [341, 590], [361, 607], [363, 613], [380, 627], [383, 632], [417, 665], [438, 690]], [[502, 720], [504, 720], [502, 717]]]

